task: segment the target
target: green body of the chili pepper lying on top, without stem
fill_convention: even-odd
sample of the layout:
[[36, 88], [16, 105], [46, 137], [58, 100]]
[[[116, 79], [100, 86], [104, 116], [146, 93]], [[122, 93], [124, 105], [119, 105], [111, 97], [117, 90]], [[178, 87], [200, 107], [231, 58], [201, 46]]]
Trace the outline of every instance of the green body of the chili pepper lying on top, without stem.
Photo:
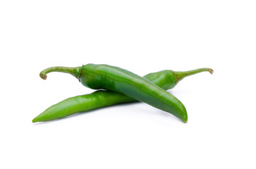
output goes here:
[[120, 92], [163, 111], [172, 113], [187, 122], [185, 106], [172, 94], [128, 70], [111, 65], [87, 64], [81, 68], [78, 79], [91, 89]]

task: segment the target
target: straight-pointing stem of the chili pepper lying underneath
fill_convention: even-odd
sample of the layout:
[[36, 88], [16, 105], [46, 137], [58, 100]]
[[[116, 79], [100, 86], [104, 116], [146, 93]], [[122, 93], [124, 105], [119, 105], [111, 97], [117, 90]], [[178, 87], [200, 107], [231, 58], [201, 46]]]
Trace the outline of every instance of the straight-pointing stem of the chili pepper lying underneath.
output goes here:
[[172, 72], [173, 72], [173, 75], [175, 75], [175, 83], [177, 84], [184, 77], [194, 75], [197, 73], [202, 73], [202, 72], [209, 72], [212, 74], [212, 73], [214, 73], [214, 70], [212, 70], [211, 68], [199, 68], [199, 69], [185, 71], [185, 72], [175, 72], [175, 71], [172, 71]]

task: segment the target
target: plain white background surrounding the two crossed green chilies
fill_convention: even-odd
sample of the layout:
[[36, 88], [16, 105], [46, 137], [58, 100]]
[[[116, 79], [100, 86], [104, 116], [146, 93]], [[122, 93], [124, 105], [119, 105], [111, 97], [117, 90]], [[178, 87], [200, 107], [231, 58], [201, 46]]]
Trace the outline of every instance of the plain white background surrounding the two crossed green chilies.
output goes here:
[[[255, 1], [0, 1], [0, 168], [256, 168]], [[213, 68], [169, 92], [188, 122], [138, 103], [31, 120], [93, 92], [41, 70]]]

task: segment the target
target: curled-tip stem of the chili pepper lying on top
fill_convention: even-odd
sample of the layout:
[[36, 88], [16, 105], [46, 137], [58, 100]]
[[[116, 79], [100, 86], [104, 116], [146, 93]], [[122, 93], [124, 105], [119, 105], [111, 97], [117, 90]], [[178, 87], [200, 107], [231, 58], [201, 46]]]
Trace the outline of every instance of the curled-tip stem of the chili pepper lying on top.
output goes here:
[[51, 68], [47, 68], [45, 70], [42, 70], [42, 72], [40, 72], [40, 77], [43, 80], [46, 80], [47, 79], [47, 73], [61, 72], [61, 73], [69, 73], [70, 75], [73, 75], [74, 77], [76, 77], [79, 80], [80, 70], [81, 70], [81, 67], [69, 68], [69, 67], [56, 66], [56, 67], [51, 67]]

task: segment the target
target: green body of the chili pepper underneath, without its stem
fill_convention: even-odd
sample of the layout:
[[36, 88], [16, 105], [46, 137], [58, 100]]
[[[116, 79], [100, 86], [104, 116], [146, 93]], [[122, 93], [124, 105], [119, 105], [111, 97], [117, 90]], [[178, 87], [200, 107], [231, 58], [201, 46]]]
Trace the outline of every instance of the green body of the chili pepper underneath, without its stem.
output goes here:
[[[176, 84], [175, 75], [173, 75], [171, 70], [149, 73], [144, 77], [165, 90], [173, 89]], [[34, 118], [33, 123], [64, 118], [74, 113], [133, 101], [137, 100], [117, 92], [98, 90], [91, 94], [74, 96], [50, 106], [50, 108], [47, 108], [44, 112]]]

